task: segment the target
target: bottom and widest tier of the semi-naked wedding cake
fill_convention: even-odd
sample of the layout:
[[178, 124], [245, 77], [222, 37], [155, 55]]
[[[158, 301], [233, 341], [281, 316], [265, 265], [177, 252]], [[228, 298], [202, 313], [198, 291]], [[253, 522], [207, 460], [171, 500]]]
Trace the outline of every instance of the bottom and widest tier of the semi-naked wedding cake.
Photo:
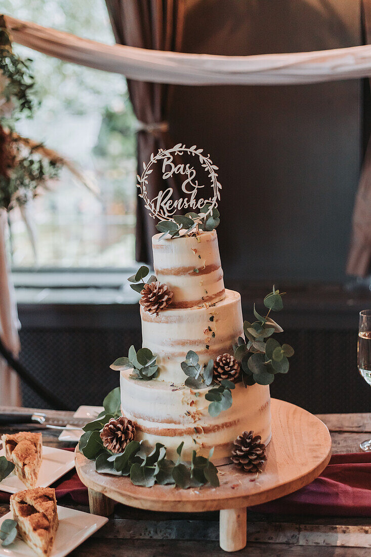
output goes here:
[[145, 446], [162, 443], [167, 458], [177, 458], [176, 449], [184, 441], [182, 459], [191, 460], [192, 451], [208, 456], [214, 448], [215, 465], [230, 462], [233, 440], [252, 429], [267, 444], [271, 438], [271, 409], [268, 385], [243, 387], [232, 391], [231, 408], [217, 417], [208, 413], [209, 388], [193, 390], [174, 383], [130, 378], [131, 371], [120, 374], [121, 413], [135, 423], [135, 438]]

